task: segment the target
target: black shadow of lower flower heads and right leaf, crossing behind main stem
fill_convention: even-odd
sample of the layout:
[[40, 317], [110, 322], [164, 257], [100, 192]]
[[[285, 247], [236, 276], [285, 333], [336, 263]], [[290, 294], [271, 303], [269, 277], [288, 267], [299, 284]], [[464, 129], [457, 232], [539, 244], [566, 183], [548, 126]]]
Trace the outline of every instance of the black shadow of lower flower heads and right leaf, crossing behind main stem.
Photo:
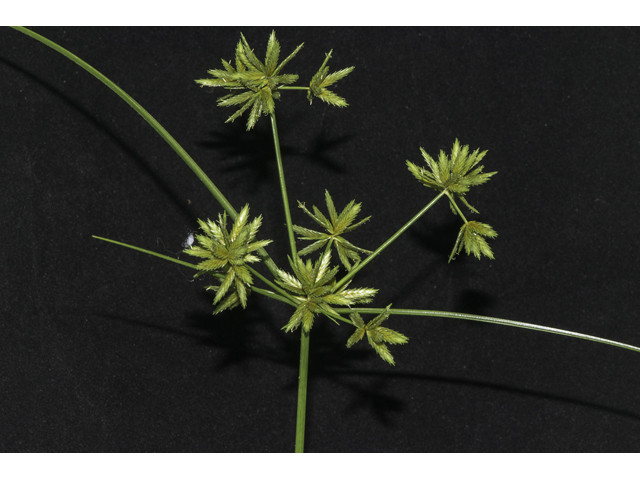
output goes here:
[[[483, 301], [482, 298], [480, 300]], [[269, 329], [277, 331], [280, 334], [277, 338], [277, 345], [265, 346], [265, 342], [255, 342], [257, 324], [265, 323], [265, 314], [267, 315], [266, 323], [269, 325]], [[104, 314], [101, 316], [110, 320], [116, 320], [143, 328], [151, 328], [172, 335], [194, 338], [198, 342], [215, 349], [226, 350], [226, 356], [215, 368], [226, 368], [230, 365], [241, 363], [248, 358], [259, 358], [289, 366], [296, 365], [298, 362], [300, 348], [299, 335], [295, 333], [282, 335], [280, 327], [273, 325], [274, 316], [270, 311], [265, 311], [261, 306], [248, 307], [244, 311], [235, 313], [232, 310], [228, 312], [228, 315], [220, 314], [220, 322], [212, 322], [211, 314], [195, 312], [189, 315], [190, 326], [204, 332], [204, 336], [201, 333], [192, 333], [173, 327], [152, 325], [135, 319]], [[261, 337], [260, 340], [263, 340], [263, 337]], [[495, 392], [596, 409], [605, 414], [618, 415], [631, 421], [640, 421], [640, 414], [634, 411], [513, 385], [452, 376], [417, 374], [398, 370], [389, 372], [376, 369], [356, 369], [354, 366], [362, 365], [362, 362], [365, 360], [380, 360], [373, 351], [367, 348], [357, 348], [356, 346], [353, 349], [347, 349], [343, 345], [345, 342], [345, 335], [338, 335], [336, 329], [333, 328], [333, 325], [329, 324], [328, 321], [322, 323], [320, 321], [316, 322], [310, 345], [309, 393], [313, 391], [314, 383], [319, 378], [324, 378], [335, 385], [346, 387], [351, 391], [351, 395], [347, 399], [347, 406], [343, 411], [344, 414], [355, 415], [363, 409], [367, 409], [369, 413], [386, 428], [393, 428], [395, 423], [394, 418], [408, 407], [407, 400], [402, 396], [389, 392], [389, 385], [393, 379], [440, 383], [471, 389], [489, 389]], [[268, 343], [272, 342], [270, 341]], [[255, 347], [256, 344], [259, 346]], [[360, 379], [370, 378], [371, 381], [363, 385], [360, 380], [352, 380], [349, 377], [359, 377]], [[283, 385], [283, 389], [291, 392], [297, 391], [297, 375], [291, 375], [290, 381]], [[321, 397], [321, 395], [309, 395], [308, 409], [310, 411], [313, 409], [313, 403]], [[308, 427], [308, 430], [313, 428], [312, 425]]]

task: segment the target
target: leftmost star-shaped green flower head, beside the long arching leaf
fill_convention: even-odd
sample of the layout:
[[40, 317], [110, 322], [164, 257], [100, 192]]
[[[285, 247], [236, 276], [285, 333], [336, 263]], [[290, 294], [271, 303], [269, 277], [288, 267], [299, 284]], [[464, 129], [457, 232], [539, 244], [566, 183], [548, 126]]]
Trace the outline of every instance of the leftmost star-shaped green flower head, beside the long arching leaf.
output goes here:
[[[200, 272], [196, 275], [211, 273], [221, 280], [220, 285], [208, 287], [208, 290], [216, 292], [213, 304], [218, 306], [213, 311], [214, 315], [237, 305], [246, 308], [247, 295], [253, 285], [246, 264], [259, 262], [260, 259], [252, 252], [271, 243], [271, 240], [255, 240], [262, 216], [250, 223], [247, 223], [248, 219], [249, 205], [245, 205], [231, 231], [227, 231], [226, 213], [218, 215], [217, 223], [198, 220], [204, 234], [196, 235], [197, 244], [185, 250], [189, 255], [205, 259], [197, 265]], [[218, 271], [222, 274], [216, 273]]]

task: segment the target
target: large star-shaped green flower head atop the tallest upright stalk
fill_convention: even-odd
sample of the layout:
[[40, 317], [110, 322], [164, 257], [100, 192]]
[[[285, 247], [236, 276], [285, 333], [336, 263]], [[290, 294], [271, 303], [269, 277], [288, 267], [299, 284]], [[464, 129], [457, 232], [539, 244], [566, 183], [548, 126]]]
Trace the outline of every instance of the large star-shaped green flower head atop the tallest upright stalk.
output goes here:
[[302, 44], [291, 55], [278, 65], [280, 56], [280, 44], [276, 40], [275, 32], [271, 33], [267, 43], [266, 60], [262, 63], [255, 56], [251, 47], [240, 35], [240, 41], [236, 47], [236, 66], [222, 60], [224, 70], [209, 70], [214, 78], [196, 80], [203, 87], [223, 87], [227, 90], [245, 90], [242, 93], [232, 93], [218, 99], [218, 105], [230, 107], [241, 105], [240, 109], [231, 115], [227, 122], [233, 122], [245, 111], [251, 108], [247, 130], [251, 130], [260, 115], [269, 115], [275, 111], [274, 100], [280, 98], [278, 87], [289, 85], [298, 80], [298, 75], [282, 74], [282, 68], [302, 48]]

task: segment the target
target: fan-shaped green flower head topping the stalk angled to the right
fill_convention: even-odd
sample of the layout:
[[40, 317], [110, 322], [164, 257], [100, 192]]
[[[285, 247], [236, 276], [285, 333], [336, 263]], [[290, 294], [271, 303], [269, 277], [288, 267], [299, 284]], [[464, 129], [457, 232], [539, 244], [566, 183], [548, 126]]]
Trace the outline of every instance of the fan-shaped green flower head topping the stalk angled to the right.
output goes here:
[[497, 173], [482, 173], [484, 166], [477, 166], [487, 151], [475, 150], [469, 153], [469, 145], [461, 147], [458, 139], [453, 144], [450, 156], [440, 150], [438, 161], [431, 158], [422, 147], [420, 151], [429, 169], [418, 167], [407, 160], [407, 167], [413, 176], [426, 187], [439, 192], [447, 190], [450, 194], [458, 197], [469, 209], [478, 213], [467, 203], [464, 196], [469, 188], [482, 185]]

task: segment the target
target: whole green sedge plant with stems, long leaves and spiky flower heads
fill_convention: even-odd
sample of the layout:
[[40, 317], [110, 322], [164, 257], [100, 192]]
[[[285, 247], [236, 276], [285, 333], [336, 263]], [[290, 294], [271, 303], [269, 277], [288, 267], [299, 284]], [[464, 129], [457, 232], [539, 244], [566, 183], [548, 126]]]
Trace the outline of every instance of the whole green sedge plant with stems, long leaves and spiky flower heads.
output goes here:
[[[310, 103], [319, 100], [333, 107], [347, 107], [347, 101], [336, 93], [336, 89], [338, 82], [347, 78], [354, 67], [331, 70], [329, 60], [332, 51], [325, 55], [319, 69], [309, 80], [300, 81], [297, 74], [291, 73], [291, 69], [302, 44], [287, 56], [281, 55], [280, 44], [275, 32], [272, 32], [264, 55], [259, 56], [241, 34], [233, 60], [222, 60], [220, 68], [208, 70], [208, 77], [195, 80], [202, 88], [220, 91], [218, 105], [232, 109], [227, 122], [243, 121], [247, 130], [252, 130], [262, 117], [268, 118], [273, 137], [273, 168], [278, 172], [279, 195], [288, 238], [288, 262], [286, 265], [277, 265], [269, 254], [269, 250], [277, 248], [277, 244], [261, 237], [263, 218], [260, 212], [256, 214], [255, 206], [244, 205], [239, 211], [236, 210], [186, 150], [141, 105], [102, 73], [41, 35], [23, 27], [14, 28], [53, 48], [112, 89], [174, 149], [220, 205], [220, 210], [211, 212], [209, 218], [197, 220], [200, 230], [185, 249], [193, 262], [104, 237], [94, 238], [193, 269], [195, 276], [209, 281], [207, 290], [213, 297], [214, 315], [230, 309], [246, 308], [252, 295], [262, 295], [290, 307], [290, 316], [282, 319], [281, 328], [283, 335], [300, 336], [296, 433], [295, 439], [292, 439], [296, 452], [304, 451], [309, 344], [317, 322], [332, 322], [343, 329], [347, 338], [346, 348], [366, 338], [366, 343], [380, 360], [390, 365], [395, 365], [394, 349], [409, 341], [410, 332], [399, 331], [399, 319], [407, 315], [493, 323], [640, 352], [640, 348], [632, 345], [530, 323], [420, 308], [392, 308], [390, 304], [378, 302], [379, 292], [375, 285], [352, 287], [353, 279], [364, 267], [378, 259], [391, 243], [441, 200], [448, 203], [453, 215], [460, 221], [460, 230], [452, 245], [449, 261], [463, 252], [477, 259], [493, 260], [491, 242], [497, 237], [496, 231], [484, 221], [469, 220], [466, 215], [479, 213], [467, 199], [467, 195], [473, 191], [472, 187], [486, 184], [496, 172], [484, 170], [483, 161], [487, 151], [472, 149], [458, 139], [454, 140], [450, 151], [440, 151], [434, 156], [420, 148], [420, 155], [415, 155], [417, 158], [406, 161], [407, 181], [417, 180], [426, 187], [424, 207], [413, 215], [407, 215], [407, 220], [398, 225], [397, 231], [375, 250], [356, 246], [349, 239], [352, 231], [366, 228], [370, 222], [369, 216], [359, 218], [362, 205], [354, 199], [345, 206], [336, 207], [329, 189], [325, 190], [325, 205], [321, 207], [308, 207], [303, 200], [296, 199], [298, 208], [308, 222], [294, 225], [276, 106], [280, 108], [286, 96], [305, 94]], [[465, 215], [465, 210], [470, 213]]]

